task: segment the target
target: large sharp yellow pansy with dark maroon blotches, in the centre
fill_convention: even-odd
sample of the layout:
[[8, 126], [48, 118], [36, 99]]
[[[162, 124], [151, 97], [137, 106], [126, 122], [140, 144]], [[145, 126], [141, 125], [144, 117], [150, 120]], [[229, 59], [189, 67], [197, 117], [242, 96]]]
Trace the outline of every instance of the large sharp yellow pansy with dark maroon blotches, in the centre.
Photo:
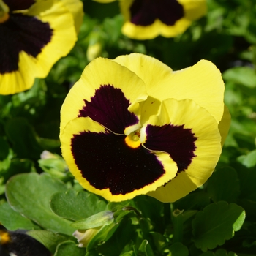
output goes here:
[[61, 108], [69, 170], [107, 200], [178, 200], [217, 164], [230, 125], [223, 91], [209, 61], [179, 72], [138, 53], [91, 61]]

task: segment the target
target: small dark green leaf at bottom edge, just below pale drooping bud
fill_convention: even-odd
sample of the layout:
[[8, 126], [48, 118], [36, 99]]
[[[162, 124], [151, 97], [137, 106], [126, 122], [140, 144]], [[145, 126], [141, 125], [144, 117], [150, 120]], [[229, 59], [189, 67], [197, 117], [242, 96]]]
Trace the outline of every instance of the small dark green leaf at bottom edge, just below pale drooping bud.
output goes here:
[[78, 247], [73, 241], [65, 241], [57, 246], [54, 256], [84, 256], [86, 248]]

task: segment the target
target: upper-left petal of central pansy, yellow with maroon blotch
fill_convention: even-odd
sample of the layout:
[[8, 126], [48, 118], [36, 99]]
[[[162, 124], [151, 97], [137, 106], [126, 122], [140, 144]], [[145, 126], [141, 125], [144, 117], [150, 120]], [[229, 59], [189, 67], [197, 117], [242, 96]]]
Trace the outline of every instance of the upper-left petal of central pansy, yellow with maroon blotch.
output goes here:
[[62, 105], [61, 131], [79, 116], [89, 116], [118, 134], [124, 134], [127, 127], [138, 129], [139, 102], [146, 98], [146, 86], [137, 75], [110, 59], [95, 59]]

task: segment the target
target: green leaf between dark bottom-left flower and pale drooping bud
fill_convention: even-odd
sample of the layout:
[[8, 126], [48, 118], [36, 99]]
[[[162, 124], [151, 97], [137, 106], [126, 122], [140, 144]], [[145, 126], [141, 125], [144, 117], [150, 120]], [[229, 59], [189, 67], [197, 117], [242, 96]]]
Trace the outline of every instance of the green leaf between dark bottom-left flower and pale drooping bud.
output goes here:
[[72, 239], [71, 236], [59, 235], [48, 230], [29, 230], [27, 234], [37, 239], [41, 244], [44, 244], [52, 254], [56, 251], [58, 244]]

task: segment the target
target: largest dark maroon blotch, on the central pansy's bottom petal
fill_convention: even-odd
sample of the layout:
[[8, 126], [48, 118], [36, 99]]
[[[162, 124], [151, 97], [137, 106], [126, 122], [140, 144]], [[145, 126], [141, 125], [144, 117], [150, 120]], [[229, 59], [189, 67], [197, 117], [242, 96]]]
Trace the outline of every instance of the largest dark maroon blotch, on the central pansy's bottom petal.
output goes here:
[[129, 148], [124, 135], [81, 132], [72, 138], [72, 155], [91, 186], [125, 195], [141, 189], [164, 175], [154, 154], [143, 146]]

